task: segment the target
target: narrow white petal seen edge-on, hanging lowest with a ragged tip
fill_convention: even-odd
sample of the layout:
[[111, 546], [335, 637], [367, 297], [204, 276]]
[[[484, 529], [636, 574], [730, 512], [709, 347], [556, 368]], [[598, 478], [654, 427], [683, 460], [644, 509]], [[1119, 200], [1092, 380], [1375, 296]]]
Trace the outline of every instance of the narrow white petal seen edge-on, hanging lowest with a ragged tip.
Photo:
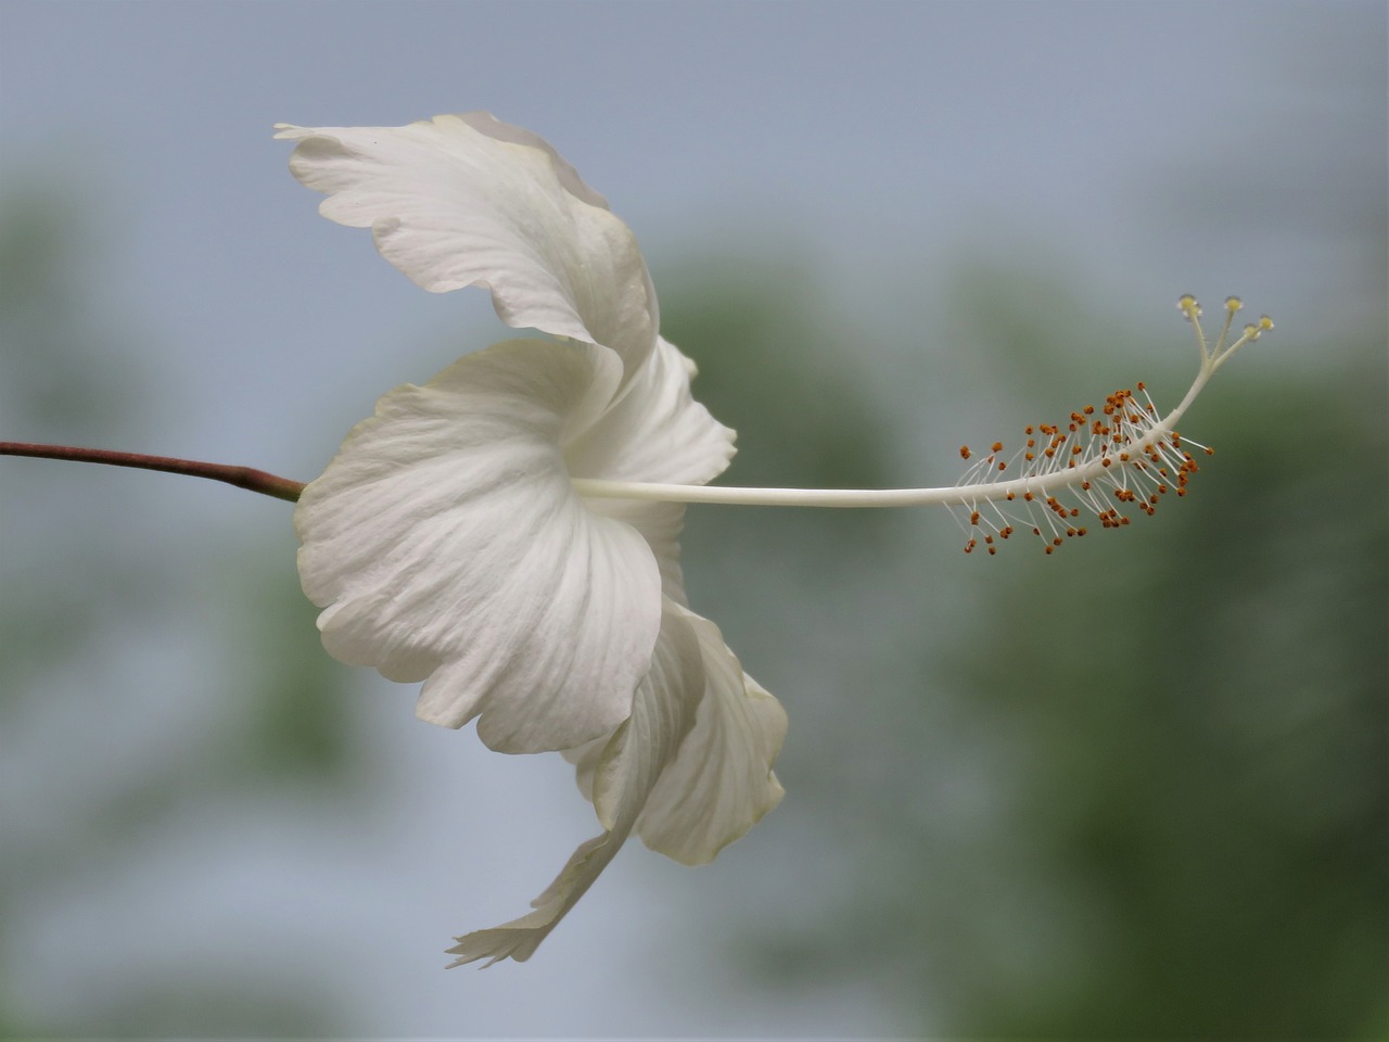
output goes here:
[[700, 640], [681, 610], [667, 602], [651, 670], [636, 690], [632, 716], [601, 746], [592, 764], [594, 806], [603, 835], [582, 843], [532, 902], [535, 911], [493, 929], [456, 938], [449, 949], [461, 966], [486, 959], [524, 961], [608, 866], [642, 816], [657, 778], [694, 724], [704, 689]]

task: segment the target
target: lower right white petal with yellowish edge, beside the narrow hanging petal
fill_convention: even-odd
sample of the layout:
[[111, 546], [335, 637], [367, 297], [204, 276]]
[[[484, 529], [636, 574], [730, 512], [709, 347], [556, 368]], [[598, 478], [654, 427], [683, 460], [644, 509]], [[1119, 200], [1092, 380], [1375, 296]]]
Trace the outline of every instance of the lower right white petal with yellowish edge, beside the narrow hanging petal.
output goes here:
[[653, 850], [703, 864], [781, 802], [772, 764], [786, 711], [743, 672], [718, 627], [679, 611], [699, 638], [706, 686], [694, 728], [651, 791], [636, 831]]

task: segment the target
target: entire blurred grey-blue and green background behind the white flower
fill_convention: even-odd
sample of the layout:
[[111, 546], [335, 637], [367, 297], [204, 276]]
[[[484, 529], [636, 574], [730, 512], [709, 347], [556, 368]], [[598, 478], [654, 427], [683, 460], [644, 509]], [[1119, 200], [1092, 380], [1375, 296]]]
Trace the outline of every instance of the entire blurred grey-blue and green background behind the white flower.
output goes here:
[[[1193, 492], [1043, 557], [938, 511], [694, 508], [788, 796], [633, 843], [329, 660], [289, 507], [0, 460], [0, 1035], [1383, 1038], [1381, 3], [0, 4], [0, 438], [310, 478], [506, 331], [314, 213], [276, 121], [488, 108], [642, 239], [729, 482], [956, 447], [1276, 332]], [[1214, 307], [1213, 307], [1214, 306]]]

